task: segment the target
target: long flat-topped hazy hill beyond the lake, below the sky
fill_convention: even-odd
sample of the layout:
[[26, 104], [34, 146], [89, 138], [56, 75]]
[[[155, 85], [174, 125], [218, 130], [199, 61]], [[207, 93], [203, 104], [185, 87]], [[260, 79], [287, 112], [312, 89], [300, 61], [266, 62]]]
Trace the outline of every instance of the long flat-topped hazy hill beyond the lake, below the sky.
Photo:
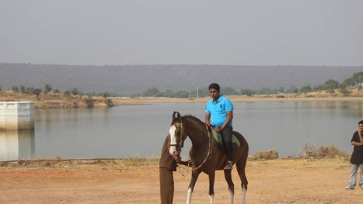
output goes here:
[[84, 93], [140, 93], [151, 86], [160, 91], [205, 88], [210, 83], [240, 89], [316, 86], [328, 79], [342, 82], [363, 66], [249, 66], [249, 65], [57, 65], [0, 63], [0, 86], [43, 88], [62, 92], [77, 88]]

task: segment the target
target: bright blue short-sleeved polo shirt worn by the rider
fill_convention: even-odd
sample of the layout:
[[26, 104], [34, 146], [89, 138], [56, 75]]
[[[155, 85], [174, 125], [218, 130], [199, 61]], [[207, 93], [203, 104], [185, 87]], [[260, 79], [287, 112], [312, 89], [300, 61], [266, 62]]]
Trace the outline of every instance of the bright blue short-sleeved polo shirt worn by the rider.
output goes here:
[[[227, 111], [233, 111], [233, 104], [229, 99], [220, 96], [216, 103], [213, 103], [213, 99], [207, 102], [206, 113], [211, 114], [211, 124], [217, 127], [221, 127], [227, 120]], [[232, 127], [232, 121], [228, 124]]]

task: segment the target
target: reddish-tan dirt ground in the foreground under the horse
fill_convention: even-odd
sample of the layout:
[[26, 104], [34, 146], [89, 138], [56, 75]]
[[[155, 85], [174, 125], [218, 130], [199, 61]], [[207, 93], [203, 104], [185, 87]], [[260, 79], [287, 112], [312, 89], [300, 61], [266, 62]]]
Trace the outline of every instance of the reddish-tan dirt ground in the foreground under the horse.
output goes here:
[[[117, 162], [58, 162], [0, 165], [0, 203], [159, 203], [157, 164], [125, 166]], [[185, 169], [181, 169], [186, 173]], [[248, 161], [247, 203], [362, 203], [363, 190], [345, 190], [346, 159]], [[185, 203], [190, 175], [174, 172], [174, 203]], [[235, 169], [234, 203], [241, 201]], [[222, 171], [217, 171], [215, 203], [228, 203]], [[208, 177], [202, 173], [193, 203], [209, 203]]]

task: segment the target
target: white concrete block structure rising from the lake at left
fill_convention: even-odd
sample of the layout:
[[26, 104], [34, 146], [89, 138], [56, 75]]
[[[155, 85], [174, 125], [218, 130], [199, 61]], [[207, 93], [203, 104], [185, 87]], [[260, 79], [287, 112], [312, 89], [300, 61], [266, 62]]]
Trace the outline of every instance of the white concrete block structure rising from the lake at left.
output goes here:
[[34, 129], [34, 102], [0, 102], [0, 130]]

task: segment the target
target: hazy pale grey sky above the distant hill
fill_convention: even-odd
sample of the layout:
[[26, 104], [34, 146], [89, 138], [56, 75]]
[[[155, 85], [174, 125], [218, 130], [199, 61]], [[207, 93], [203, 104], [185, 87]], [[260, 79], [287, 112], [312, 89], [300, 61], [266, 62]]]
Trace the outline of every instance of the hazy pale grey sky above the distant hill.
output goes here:
[[0, 62], [363, 65], [363, 1], [4, 1]]

